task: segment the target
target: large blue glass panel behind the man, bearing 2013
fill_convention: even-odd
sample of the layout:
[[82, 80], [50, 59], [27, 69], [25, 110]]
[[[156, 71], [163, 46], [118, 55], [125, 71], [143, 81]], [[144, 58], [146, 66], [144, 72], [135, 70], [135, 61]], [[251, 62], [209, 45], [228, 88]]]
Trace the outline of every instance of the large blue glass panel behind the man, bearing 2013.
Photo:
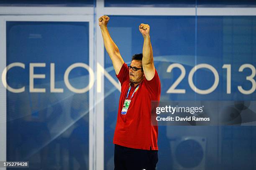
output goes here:
[[[151, 28], [154, 63], [161, 80], [161, 101], [241, 100], [241, 103], [249, 106], [250, 102], [247, 101], [256, 99], [255, 89], [251, 94], [243, 94], [238, 90], [238, 86], [242, 86], [245, 90], [252, 88], [251, 82], [246, 80], [246, 76], [252, 73], [251, 69], [246, 68], [243, 72], [239, 72], [238, 69], [245, 63], [256, 66], [256, 17], [110, 16], [108, 23], [110, 35], [126, 63], [131, 62], [134, 53], [142, 52], [143, 38], [138, 30], [140, 23], [148, 23]], [[184, 66], [185, 76], [176, 89], [185, 89], [185, 94], [167, 92], [182, 72], [174, 68], [171, 73], [167, 73], [166, 70], [172, 63], [180, 63]], [[198, 69], [192, 75], [193, 83], [198, 89], [209, 89], [215, 81], [209, 66], [217, 71], [219, 77], [218, 86], [208, 94], [195, 93], [188, 82], [189, 72], [195, 65], [202, 63], [206, 63], [207, 67]], [[222, 68], [224, 64], [231, 65], [231, 94], [227, 94], [227, 69]], [[106, 51], [105, 69], [116, 78]], [[255, 77], [253, 79], [255, 80]], [[105, 79], [106, 170], [113, 169], [114, 166], [113, 134], [119, 96], [120, 92], [113, 88], [108, 79]], [[237, 105], [234, 105], [234, 108], [239, 109]], [[239, 114], [243, 113], [243, 109], [237, 111]], [[232, 117], [231, 113], [226, 114]], [[255, 126], [159, 126], [157, 168], [169, 170], [194, 166], [197, 169], [207, 170], [238, 170], [244, 169], [243, 167], [253, 169], [255, 167], [253, 158], [256, 155], [253, 146], [256, 142], [255, 133]], [[186, 137], [191, 139], [189, 141], [191, 143], [182, 142]], [[179, 150], [179, 144], [194, 146], [195, 141], [199, 147], [191, 150], [191, 153]], [[192, 160], [189, 154], [193, 155]], [[196, 154], [199, 155], [195, 156]], [[183, 158], [190, 159], [191, 164], [184, 165]]]

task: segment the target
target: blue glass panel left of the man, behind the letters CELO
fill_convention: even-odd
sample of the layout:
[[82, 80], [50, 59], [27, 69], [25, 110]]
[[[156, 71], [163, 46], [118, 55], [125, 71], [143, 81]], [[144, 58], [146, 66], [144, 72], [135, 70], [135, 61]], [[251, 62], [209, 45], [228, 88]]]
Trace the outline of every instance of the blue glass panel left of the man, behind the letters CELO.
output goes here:
[[12, 88], [25, 87], [6, 94], [7, 160], [29, 161], [31, 169], [88, 169], [89, 92], [78, 94], [70, 86], [84, 88], [89, 75], [82, 67], [68, 75], [67, 68], [89, 63], [89, 23], [8, 21], [6, 30], [6, 64], [25, 66], [7, 74]]

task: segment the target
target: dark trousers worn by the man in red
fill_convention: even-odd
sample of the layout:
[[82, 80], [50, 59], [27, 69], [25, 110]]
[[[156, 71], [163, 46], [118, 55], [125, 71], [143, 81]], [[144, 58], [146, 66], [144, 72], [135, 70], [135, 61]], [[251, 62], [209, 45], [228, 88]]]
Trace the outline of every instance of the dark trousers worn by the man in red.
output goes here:
[[115, 170], [156, 170], [157, 152], [115, 145]]

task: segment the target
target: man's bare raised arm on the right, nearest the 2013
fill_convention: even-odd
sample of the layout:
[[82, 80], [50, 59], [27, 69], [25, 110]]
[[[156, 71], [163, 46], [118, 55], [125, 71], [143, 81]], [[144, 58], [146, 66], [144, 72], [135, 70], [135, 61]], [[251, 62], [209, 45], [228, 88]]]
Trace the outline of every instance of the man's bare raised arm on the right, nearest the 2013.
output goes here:
[[153, 79], [155, 75], [153, 50], [150, 42], [149, 29], [150, 28], [148, 24], [141, 23], [141, 25], [139, 25], [139, 30], [144, 38], [143, 50], [142, 50], [142, 54], [143, 54], [142, 66], [143, 66], [143, 71], [147, 80]]

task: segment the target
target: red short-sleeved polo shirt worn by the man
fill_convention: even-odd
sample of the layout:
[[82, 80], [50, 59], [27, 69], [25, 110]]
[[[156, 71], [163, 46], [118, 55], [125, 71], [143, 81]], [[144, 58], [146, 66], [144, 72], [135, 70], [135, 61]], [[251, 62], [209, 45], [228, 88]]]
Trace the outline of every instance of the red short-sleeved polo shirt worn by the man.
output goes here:
[[158, 127], [151, 125], [151, 101], [159, 101], [161, 94], [161, 84], [156, 69], [153, 79], [148, 81], [144, 78], [141, 81], [132, 99], [136, 87], [131, 87], [128, 96], [131, 103], [126, 114], [121, 114], [130, 83], [126, 63], [123, 63], [117, 78], [121, 83], [121, 94], [113, 143], [135, 149], [150, 150], [151, 147], [152, 150], [158, 150]]

